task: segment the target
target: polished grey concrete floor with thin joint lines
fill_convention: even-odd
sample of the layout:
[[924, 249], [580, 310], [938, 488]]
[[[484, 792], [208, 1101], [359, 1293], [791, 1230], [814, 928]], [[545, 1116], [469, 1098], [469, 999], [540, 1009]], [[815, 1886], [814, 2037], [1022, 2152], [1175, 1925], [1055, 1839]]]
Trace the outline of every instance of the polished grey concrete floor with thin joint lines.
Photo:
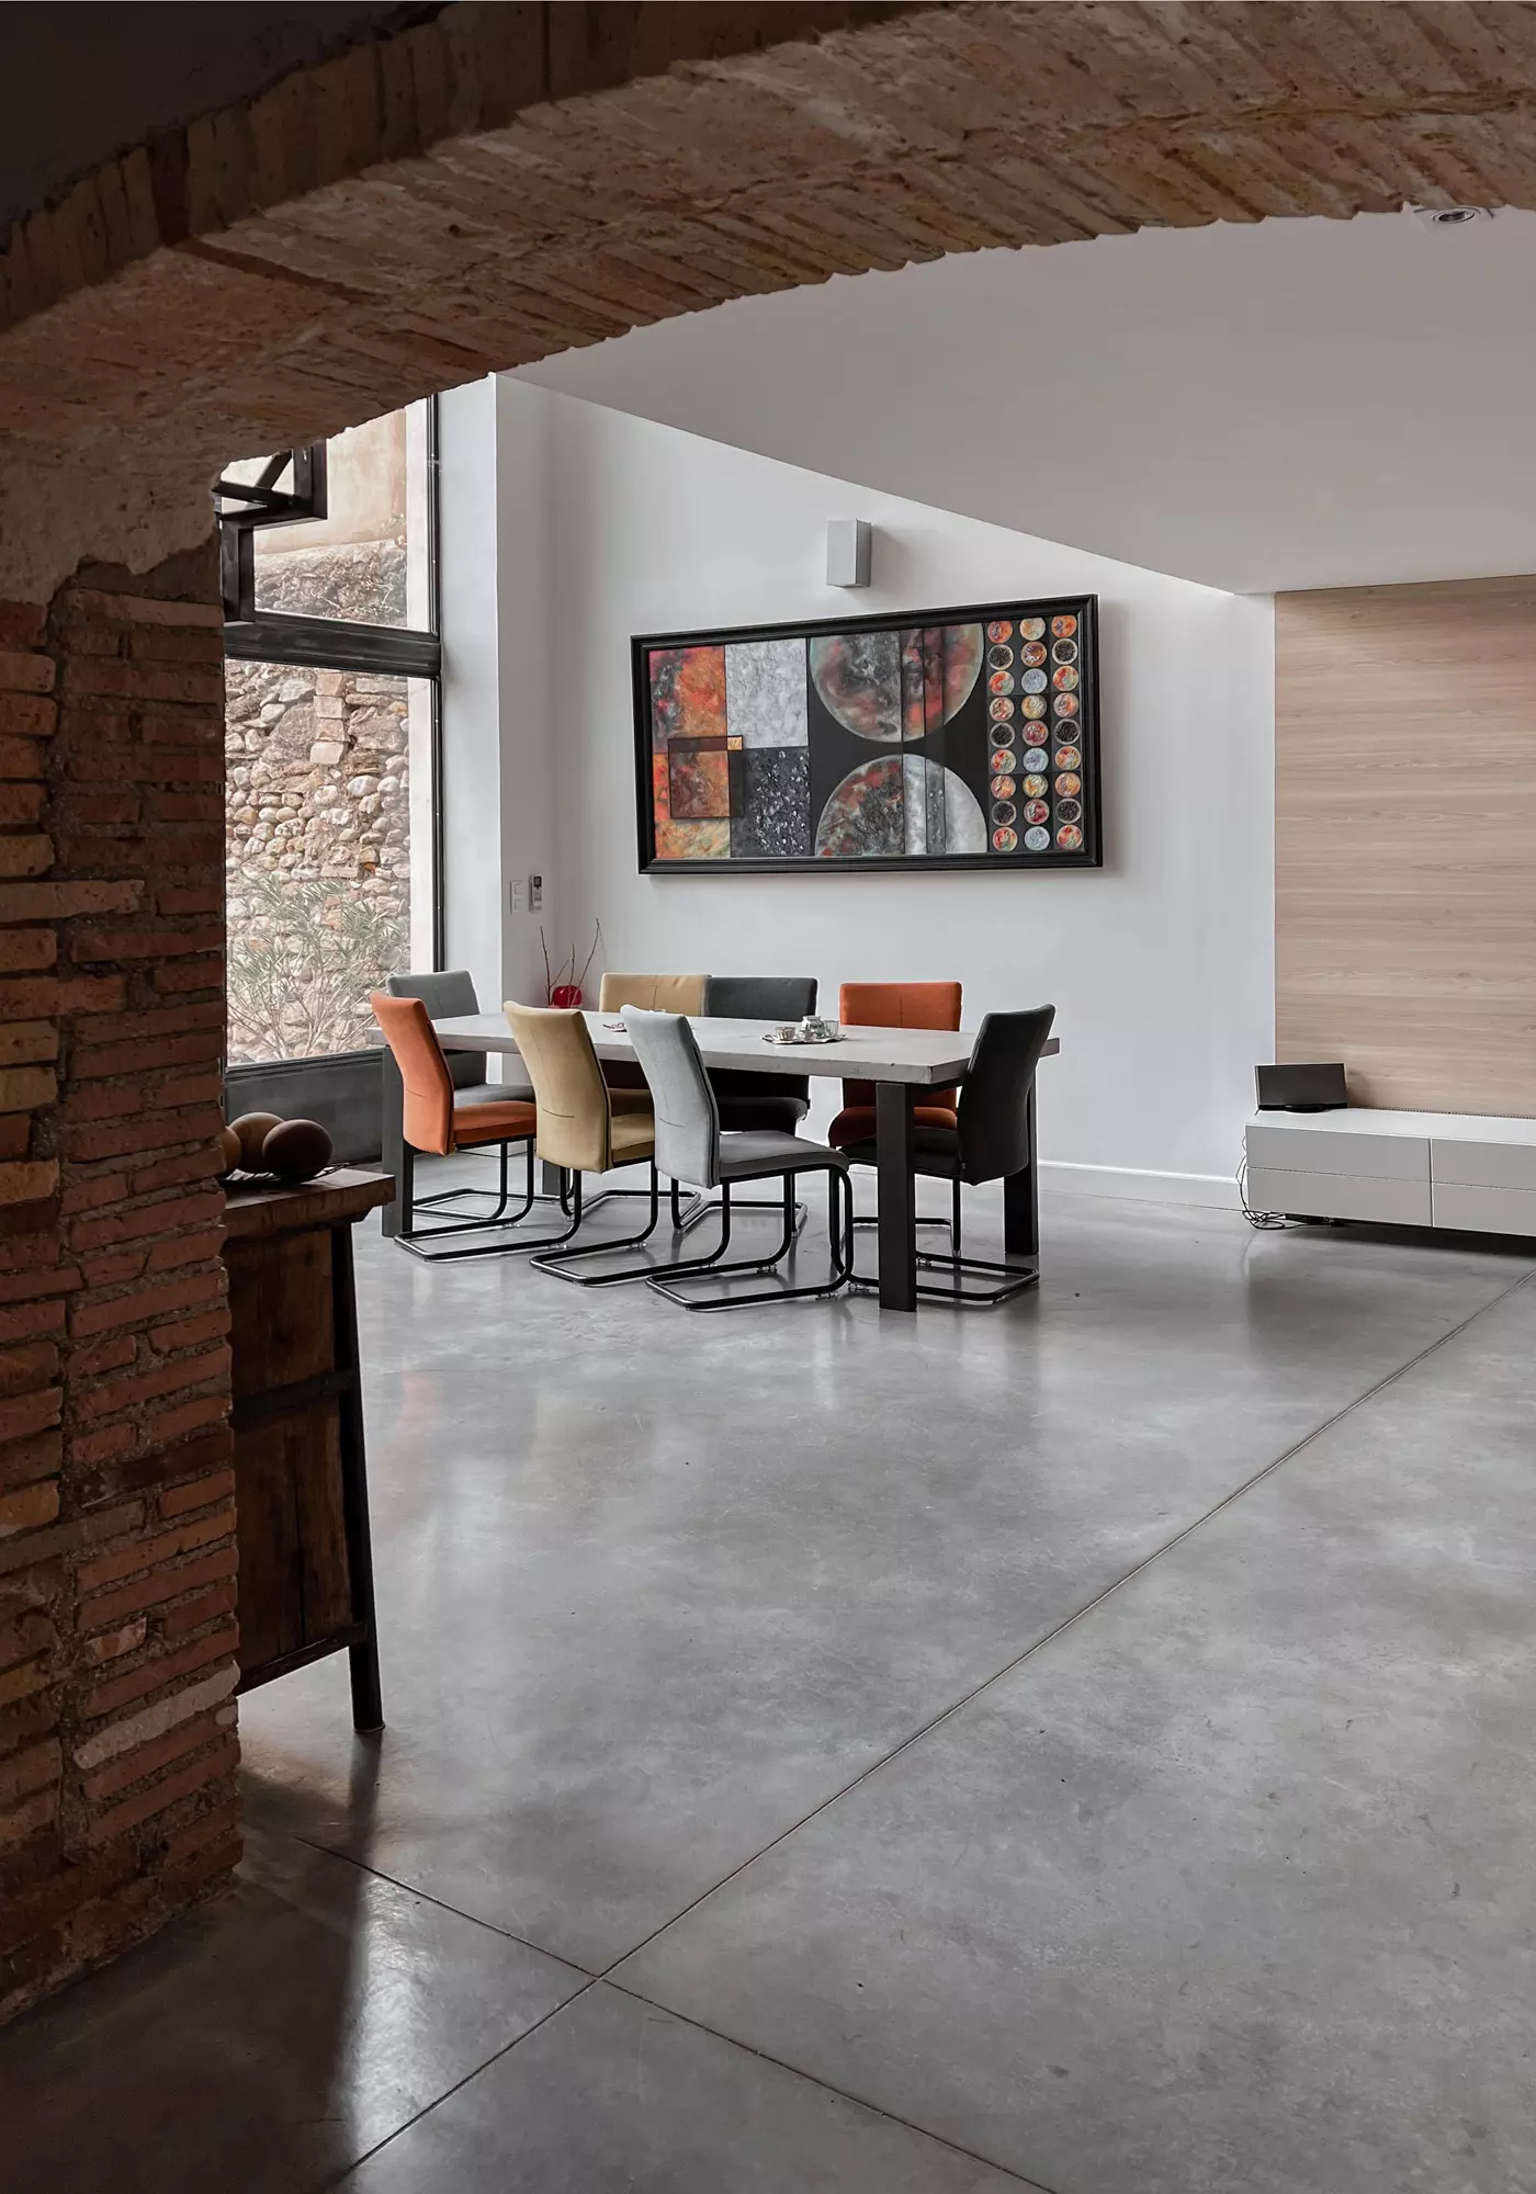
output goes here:
[[1044, 1242], [364, 1240], [388, 1731], [244, 1705], [244, 1885], [0, 2036], [7, 2194], [1532, 2194], [1536, 1266]]

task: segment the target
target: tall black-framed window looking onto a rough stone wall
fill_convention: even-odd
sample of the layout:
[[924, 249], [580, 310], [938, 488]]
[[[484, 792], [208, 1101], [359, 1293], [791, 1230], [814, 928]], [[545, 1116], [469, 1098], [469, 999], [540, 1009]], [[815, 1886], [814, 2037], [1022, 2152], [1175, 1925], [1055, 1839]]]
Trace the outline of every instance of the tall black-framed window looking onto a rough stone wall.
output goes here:
[[228, 1060], [336, 1058], [439, 959], [434, 406], [230, 465], [219, 520]]

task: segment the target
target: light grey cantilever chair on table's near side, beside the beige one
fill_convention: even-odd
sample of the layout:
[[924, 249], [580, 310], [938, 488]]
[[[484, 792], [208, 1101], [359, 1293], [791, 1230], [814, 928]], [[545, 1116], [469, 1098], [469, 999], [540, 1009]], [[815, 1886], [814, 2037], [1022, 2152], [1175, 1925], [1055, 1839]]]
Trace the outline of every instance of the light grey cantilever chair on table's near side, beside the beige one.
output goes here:
[[[720, 1106], [693, 1029], [680, 1014], [645, 1014], [625, 1007], [623, 1027], [634, 1055], [645, 1068], [656, 1108], [656, 1165], [674, 1180], [698, 1189], [720, 1189], [720, 1244], [707, 1257], [650, 1273], [650, 1286], [685, 1310], [746, 1310], [753, 1303], [788, 1303], [812, 1294], [836, 1294], [845, 1286], [851, 1253], [854, 1198], [840, 1152], [805, 1143], [777, 1128], [724, 1130]], [[770, 1273], [788, 1257], [794, 1242], [794, 1180], [803, 1174], [827, 1176], [832, 1270], [814, 1288], [755, 1288], [750, 1294], [687, 1294], [685, 1286], [700, 1277], [737, 1273]], [[783, 1180], [783, 1240], [770, 1257], [722, 1264], [731, 1246], [731, 1191], [744, 1180]]]

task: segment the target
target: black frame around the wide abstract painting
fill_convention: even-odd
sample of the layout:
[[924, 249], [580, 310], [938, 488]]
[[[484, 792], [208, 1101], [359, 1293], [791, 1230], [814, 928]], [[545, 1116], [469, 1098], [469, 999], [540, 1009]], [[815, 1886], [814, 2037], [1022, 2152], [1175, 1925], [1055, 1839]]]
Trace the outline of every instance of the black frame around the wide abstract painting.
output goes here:
[[[856, 853], [856, 856], [834, 856], [834, 853], [792, 853], [792, 856], [711, 856], [711, 858], [660, 858], [656, 853], [656, 792], [654, 792], [654, 722], [652, 722], [652, 654], [658, 649], [689, 649], [689, 647], [731, 647], [733, 643], [750, 641], [799, 641], [807, 645], [818, 634], [865, 634], [865, 632], [913, 632], [933, 630], [941, 625], [981, 625], [983, 627], [983, 656], [981, 671], [972, 691], [968, 693], [961, 709], [924, 739], [911, 742], [889, 742], [882, 748], [871, 750], [871, 759], [878, 753], [891, 755], [922, 755], [935, 742], [944, 742], [946, 766], [950, 761], [950, 742], [965, 737], [970, 746], [968, 770], [957, 770], [968, 790], [981, 799], [983, 821], [987, 823], [987, 836], [992, 836], [990, 821], [992, 807], [985, 792], [976, 792], [976, 777], [981, 785], [987, 783], [987, 770], [979, 768], [990, 759], [987, 739], [992, 733], [990, 720], [990, 693], [987, 693], [987, 645], [985, 627], [992, 623], [1007, 621], [1018, 627], [1020, 619], [1040, 617], [1044, 619], [1044, 636], [1051, 641], [1051, 619], [1053, 617], [1075, 617], [1077, 619], [1077, 715], [1073, 720], [1073, 739], [1082, 755], [1077, 774], [1082, 777], [1082, 847], [1062, 851], [1051, 842], [1044, 851], [1018, 851], [1001, 853], [987, 845], [981, 853]], [[1104, 742], [1104, 726], [1099, 715], [1099, 597], [1097, 595], [1049, 595], [1036, 599], [1012, 599], [992, 603], [957, 603], [937, 610], [886, 610], [880, 617], [823, 617], [814, 621], [792, 621], [779, 625], [711, 625], [696, 632], [647, 632], [634, 634], [630, 638], [630, 678], [634, 695], [634, 812], [636, 812], [636, 851], [641, 875], [924, 875], [941, 873], [955, 869], [968, 869], [972, 873], [985, 871], [1031, 871], [1049, 869], [1051, 873], [1062, 873], [1064, 869], [1102, 869], [1104, 867], [1104, 823], [1102, 823], [1102, 777], [1099, 777], [1099, 755]], [[812, 680], [807, 674], [807, 706], [827, 715], [825, 704], [818, 695], [812, 698]], [[845, 737], [849, 753], [856, 748], [854, 733], [843, 733], [840, 726], [827, 715], [836, 737]], [[957, 728], [955, 728], [957, 726]], [[1023, 735], [1023, 722], [1016, 726]], [[1042, 724], [1049, 733], [1047, 744], [1060, 739], [1064, 726], [1051, 722]], [[976, 746], [979, 733], [979, 746]], [[823, 728], [823, 739], [827, 731]], [[807, 761], [810, 772], [810, 761]], [[810, 796], [810, 794], [807, 794]], [[1051, 803], [1051, 825], [1055, 823], [1055, 803]], [[1023, 834], [1020, 834], [1023, 838]]]

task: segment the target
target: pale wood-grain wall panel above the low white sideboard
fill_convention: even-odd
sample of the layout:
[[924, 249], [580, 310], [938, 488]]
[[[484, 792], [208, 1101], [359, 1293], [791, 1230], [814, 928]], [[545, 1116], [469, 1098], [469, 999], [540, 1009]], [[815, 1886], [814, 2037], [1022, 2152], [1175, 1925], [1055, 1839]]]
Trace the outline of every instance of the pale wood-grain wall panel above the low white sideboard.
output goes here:
[[1277, 597], [1275, 1044], [1536, 1115], [1536, 577]]

